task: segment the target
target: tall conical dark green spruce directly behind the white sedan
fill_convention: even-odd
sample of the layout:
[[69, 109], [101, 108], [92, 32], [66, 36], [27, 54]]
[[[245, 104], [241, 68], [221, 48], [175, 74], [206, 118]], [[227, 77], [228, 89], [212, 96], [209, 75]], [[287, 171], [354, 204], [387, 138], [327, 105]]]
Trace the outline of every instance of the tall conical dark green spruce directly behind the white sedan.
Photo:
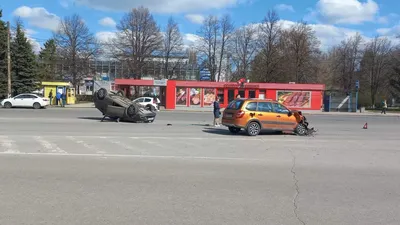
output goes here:
[[36, 59], [23, 31], [17, 22], [15, 38], [11, 42], [11, 73], [13, 94], [29, 93], [36, 89]]

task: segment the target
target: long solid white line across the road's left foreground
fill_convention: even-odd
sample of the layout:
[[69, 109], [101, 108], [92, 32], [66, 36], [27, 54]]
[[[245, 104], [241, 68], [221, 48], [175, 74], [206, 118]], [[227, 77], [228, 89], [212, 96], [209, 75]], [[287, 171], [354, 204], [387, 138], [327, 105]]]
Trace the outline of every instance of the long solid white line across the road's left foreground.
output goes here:
[[[224, 158], [224, 157], [207, 157], [207, 156], [164, 156], [164, 155], [118, 155], [118, 154], [79, 154], [79, 153], [5, 153], [1, 155], [32, 155], [32, 156], [85, 156], [85, 157], [102, 157], [102, 158], [148, 158], [148, 159], [181, 159], [181, 160], [234, 160], [234, 161], [260, 161], [265, 162], [268, 159], [260, 158]], [[273, 161], [271, 161], [273, 162]]]

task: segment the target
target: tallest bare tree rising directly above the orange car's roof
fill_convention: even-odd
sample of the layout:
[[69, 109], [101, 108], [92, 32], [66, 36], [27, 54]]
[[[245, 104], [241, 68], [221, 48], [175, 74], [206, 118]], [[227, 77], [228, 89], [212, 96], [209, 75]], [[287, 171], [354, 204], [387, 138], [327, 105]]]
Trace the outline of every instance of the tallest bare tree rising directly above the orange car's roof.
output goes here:
[[252, 63], [252, 78], [262, 82], [274, 82], [280, 77], [283, 60], [280, 46], [282, 28], [279, 16], [274, 11], [268, 11], [259, 26], [258, 48], [260, 49]]

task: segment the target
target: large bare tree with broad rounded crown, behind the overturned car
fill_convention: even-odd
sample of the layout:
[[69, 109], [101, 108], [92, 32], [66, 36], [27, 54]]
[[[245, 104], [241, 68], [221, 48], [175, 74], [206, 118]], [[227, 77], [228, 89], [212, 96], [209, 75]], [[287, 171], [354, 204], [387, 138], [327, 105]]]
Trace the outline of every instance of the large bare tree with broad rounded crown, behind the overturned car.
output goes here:
[[127, 64], [129, 77], [141, 79], [146, 63], [162, 50], [160, 28], [147, 8], [138, 7], [122, 17], [117, 29], [114, 57]]

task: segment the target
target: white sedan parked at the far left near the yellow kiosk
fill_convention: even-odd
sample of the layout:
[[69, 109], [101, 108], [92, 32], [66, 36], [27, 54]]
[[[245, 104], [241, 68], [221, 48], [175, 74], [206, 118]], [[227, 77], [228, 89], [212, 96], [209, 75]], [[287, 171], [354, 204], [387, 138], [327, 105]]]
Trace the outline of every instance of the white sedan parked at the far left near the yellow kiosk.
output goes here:
[[48, 98], [43, 98], [37, 94], [19, 94], [12, 98], [7, 98], [1, 101], [1, 105], [4, 108], [13, 107], [24, 107], [24, 108], [34, 108], [40, 109], [45, 108], [50, 103]]

